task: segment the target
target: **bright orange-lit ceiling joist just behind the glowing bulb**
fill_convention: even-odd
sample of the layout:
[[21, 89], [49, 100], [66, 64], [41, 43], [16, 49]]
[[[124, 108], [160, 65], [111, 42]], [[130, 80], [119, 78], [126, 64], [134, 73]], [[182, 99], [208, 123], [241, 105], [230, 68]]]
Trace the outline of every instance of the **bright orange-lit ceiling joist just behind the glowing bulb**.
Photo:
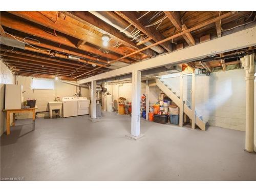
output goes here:
[[[118, 48], [114, 48], [111, 46], [103, 47], [101, 36], [97, 35], [96, 33], [91, 32], [87, 29], [81, 28], [75, 24], [72, 24], [65, 19], [59, 18], [55, 23], [53, 23], [47, 17], [41, 17], [40, 16], [41, 14], [36, 11], [8, 11], [8, 12], [13, 15], [30, 20], [31, 22], [34, 22], [36, 24], [45, 26], [50, 29], [54, 29], [54, 30], [64, 33], [66, 35], [78, 38], [80, 40], [87, 41], [90, 44], [93, 44], [100, 48], [110, 50], [110, 51], [118, 53], [120, 55], [125, 55]], [[137, 55], [137, 57], [133, 56], [132, 58], [137, 59], [137, 61], [141, 60], [141, 58], [138, 58], [138, 55]]]

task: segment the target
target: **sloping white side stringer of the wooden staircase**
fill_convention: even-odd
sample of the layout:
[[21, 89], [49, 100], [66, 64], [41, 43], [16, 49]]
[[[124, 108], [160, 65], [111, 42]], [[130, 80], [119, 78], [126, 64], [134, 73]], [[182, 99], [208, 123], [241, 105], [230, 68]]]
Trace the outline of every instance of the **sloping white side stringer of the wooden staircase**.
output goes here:
[[[181, 104], [183, 104], [183, 111], [184, 113], [191, 119], [193, 116], [193, 111], [189, 108], [190, 106], [185, 103], [185, 101], [181, 101], [180, 97], [176, 95], [175, 92], [172, 91], [170, 87], [167, 87], [164, 81], [161, 81], [160, 79], [156, 79], [156, 85], [170, 98], [172, 99], [179, 108], [181, 107]], [[205, 131], [205, 125], [206, 123], [203, 121], [201, 117], [199, 117], [195, 112], [195, 122], [199, 126], [199, 128], [203, 131]]]

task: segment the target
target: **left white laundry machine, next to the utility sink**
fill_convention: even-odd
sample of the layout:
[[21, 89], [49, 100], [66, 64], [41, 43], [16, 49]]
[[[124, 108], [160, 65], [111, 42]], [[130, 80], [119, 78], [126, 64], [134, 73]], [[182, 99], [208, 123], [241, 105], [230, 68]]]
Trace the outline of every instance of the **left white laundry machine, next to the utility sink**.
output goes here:
[[77, 101], [75, 100], [75, 97], [63, 97], [62, 103], [63, 103], [63, 108], [62, 108], [63, 117], [77, 116]]

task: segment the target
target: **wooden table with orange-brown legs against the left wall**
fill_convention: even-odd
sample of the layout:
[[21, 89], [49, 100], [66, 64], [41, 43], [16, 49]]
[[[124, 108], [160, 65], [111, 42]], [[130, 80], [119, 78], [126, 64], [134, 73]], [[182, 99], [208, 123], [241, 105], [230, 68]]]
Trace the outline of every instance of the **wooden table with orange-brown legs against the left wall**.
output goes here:
[[35, 129], [35, 110], [37, 109], [37, 106], [35, 108], [28, 108], [28, 109], [5, 109], [3, 112], [6, 112], [6, 134], [10, 135], [10, 121], [11, 121], [11, 113], [12, 113], [12, 125], [15, 126], [15, 113], [27, 113], [32, 112], [33, 113], [33, 130]]

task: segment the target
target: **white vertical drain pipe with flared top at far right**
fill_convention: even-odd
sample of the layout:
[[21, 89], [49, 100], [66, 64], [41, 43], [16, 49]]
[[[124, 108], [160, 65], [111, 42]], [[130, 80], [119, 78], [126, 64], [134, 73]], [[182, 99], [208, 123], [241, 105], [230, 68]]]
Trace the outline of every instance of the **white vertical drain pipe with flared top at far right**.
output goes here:
[[254, 129], [254, 54], [240, 59], [245, 67], [246, 82], [246, 117], [245, 117], [245, 150], [253, 152]]

